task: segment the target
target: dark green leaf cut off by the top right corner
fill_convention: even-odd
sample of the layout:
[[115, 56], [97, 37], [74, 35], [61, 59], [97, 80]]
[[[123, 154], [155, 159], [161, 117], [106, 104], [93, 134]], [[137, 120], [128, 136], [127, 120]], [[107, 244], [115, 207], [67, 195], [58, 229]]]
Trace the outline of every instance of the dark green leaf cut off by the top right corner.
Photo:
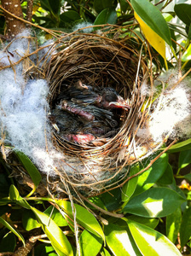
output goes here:
[[180, 20], [182, 20], [186, 25], [191, 24], [191, 4], [179, 3], [175, 4], [175, 13]]

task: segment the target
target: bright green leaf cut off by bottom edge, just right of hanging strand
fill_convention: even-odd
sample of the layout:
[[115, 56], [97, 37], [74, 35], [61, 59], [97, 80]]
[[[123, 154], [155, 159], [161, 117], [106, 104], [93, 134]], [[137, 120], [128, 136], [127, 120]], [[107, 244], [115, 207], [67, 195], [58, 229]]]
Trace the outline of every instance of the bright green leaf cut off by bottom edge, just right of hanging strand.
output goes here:
[[102, 245], [102, 239], [84, 230], [79, 237], [79, 244], [82, 256], [96, 256]]

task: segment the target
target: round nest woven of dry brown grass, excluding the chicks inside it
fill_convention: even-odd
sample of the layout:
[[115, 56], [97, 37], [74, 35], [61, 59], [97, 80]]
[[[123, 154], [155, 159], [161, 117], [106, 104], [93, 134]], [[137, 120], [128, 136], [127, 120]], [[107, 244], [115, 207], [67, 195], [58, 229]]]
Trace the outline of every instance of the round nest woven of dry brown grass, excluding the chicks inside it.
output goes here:
[[[117, 39], [113, 39], [117, 38]], [[63, 154], [63, 162], [72, 166], [72, 172], [64, 167], [56, 168], [61, 180], [67, 180], [80, 189], [97, 191], [114, 186], [116, 178], [124, 179], [127, 169], [138, 160], [153, 153], [159, 147], [152, 140], [136, 137], [139, 127], [147, 125], [148, 110], [143, 108], [146, 99], [140, 91], [148, 78], [147, 62], [142, 60], [141, 52], [135, 50], [141, 42], [120, 39], [120, 30], [111, 33], [84, 34], [72, 33], [59, 39], [49, 64], [45, 65], [46, 78], [49, 80], [50, 112], [55, 108], [56, 98], [66, 86], [80, 80], [95, 88], [113, 87], [130, 105], [130, 110], [118, 112], [118, 126], [114, 135], [86, 144], [76, 144], [61, 138], [52, 131], [52, 142]], [[149, 101], [149, 99], [148, 99]]]

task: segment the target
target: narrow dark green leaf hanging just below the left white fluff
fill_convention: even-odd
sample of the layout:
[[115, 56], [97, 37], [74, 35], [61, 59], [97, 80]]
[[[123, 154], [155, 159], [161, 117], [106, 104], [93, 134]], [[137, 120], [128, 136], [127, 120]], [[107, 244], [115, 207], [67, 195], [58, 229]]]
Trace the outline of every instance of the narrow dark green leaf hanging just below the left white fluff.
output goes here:
[[26, 168], [26, 171], [32, 178], [32, 182], [34, 183], [35, 187], [38, 186], [38, 184], [41, 182], [41, 174], [38, 172], [38, 168], [34, 166], [32, 163], [32, 160], [30, 160], [26, 154], [23, 154], [20, 151], [14, 151], [16, 155], [18, 156], [20, 162], [23, 164], [23, 166]]

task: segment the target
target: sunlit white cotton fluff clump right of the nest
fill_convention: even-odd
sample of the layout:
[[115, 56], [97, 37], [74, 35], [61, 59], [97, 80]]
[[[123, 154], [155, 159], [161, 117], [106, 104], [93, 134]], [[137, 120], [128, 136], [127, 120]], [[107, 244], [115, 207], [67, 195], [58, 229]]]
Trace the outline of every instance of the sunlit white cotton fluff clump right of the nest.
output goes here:
[[[162, 95], [153, 103], [153, 112], [150, 113], [147, 128], [139, 129], [138, 137], [152, 137], [156, 143], [161, 143], [167, 137], [190, 137], [191, 135], [191, 79], [177, 81], [179, 74], [176, 69], [164, 73], [158, 78], [158, 83], [153, 88], [157, 90], [159, 81], [167, 87]], [[173, 88], [174, 84], [177, 84]], [[146, 93], [146, 86], [142, 90]]]

